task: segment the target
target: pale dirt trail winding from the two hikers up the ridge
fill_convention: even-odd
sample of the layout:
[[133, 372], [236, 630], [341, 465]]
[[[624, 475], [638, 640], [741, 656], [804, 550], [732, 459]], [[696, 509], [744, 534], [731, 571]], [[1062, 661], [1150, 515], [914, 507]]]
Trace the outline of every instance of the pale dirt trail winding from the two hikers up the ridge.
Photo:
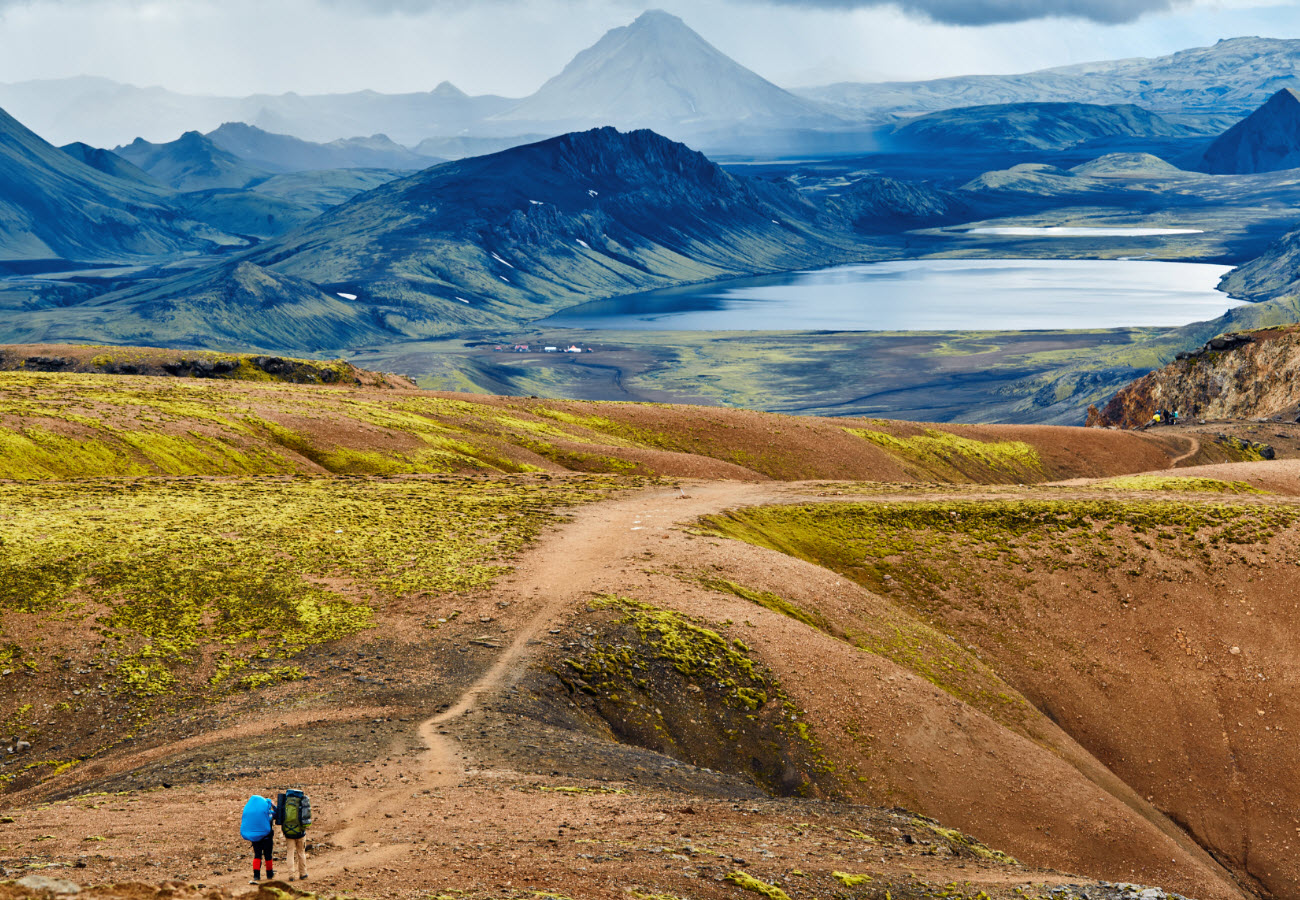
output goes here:
[[376, 834], [384, 819], [380, 810], [403, 795], [455, 787], [460, 782], [465, 760], [447, 736], [446, 727], [473, 710], [484, 697], [517, 680], [525, 671], [530, 648], [538, 636], [577, 603], [601, 592], [606, 574], [619, 562], [662, 540], [667, 529], [684, 520], [736, 506], [772, 502], [783, 493], [772, 485], [710, 483], [576, 510], [569, 524], [542, 538], [524, 555], [512, 583], [497, 588], [497, 593], [512, 603], [530, 610], [510, 646], [451, 706], [420, 724], [424, 750], [411, 782], [368, 793], [342, 812], [339, 819], [347, 825], [325, 835], [337, 849], [318, 854], [312, 873], [328, 875], [344, 867], [374, 865], [406, 852], [407, 848], [400, 844], [361, 849], [360, 844], [365, 843], [361, 835]]

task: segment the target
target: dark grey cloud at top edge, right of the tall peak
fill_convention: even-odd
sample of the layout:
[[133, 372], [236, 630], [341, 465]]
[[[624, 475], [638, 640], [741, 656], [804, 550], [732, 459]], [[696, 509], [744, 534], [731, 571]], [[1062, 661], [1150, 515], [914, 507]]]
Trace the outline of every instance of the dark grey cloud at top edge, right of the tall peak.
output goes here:
[[1132, 22], [1148, 13], [1187, 7], [1191, 0], [767, 0], [807, 9], [896, 7], [944, 25], [997, 25], [1036, 18], [1083, 18], [1104, 25]]

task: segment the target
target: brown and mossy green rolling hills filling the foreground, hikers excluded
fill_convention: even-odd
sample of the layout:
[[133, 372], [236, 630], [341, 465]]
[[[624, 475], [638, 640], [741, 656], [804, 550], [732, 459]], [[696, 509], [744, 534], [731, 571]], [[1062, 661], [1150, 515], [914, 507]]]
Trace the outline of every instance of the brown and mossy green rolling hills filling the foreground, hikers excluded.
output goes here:
[[318, 892], [1296, 883], [1296, 576], [1271, 562], [1294, 463], [343, 381], [0, 382], [0, 715], [25, 744], [0, 835], [42, 871], [153, 882], [170, 835], [169, 883], [225, 900], [225, 830], [274, 770], [318, 809]]

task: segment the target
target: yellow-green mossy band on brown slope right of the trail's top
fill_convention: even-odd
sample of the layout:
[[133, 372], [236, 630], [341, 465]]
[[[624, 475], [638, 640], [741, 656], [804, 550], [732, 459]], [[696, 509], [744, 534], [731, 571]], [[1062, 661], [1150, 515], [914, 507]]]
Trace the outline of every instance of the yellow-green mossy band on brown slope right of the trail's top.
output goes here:
[[[928, 501], [740, 510], [706, 518], [712, 533], [827, 566], [872, 589], [937, 598], [1015, 572], [1122, 568], [1157, 541], [1197, 559], [1266, 545], [1300, 523], [1292, 505], [1169, 499]], [[1127, 537], [1128, 540], [1119, 540]]]

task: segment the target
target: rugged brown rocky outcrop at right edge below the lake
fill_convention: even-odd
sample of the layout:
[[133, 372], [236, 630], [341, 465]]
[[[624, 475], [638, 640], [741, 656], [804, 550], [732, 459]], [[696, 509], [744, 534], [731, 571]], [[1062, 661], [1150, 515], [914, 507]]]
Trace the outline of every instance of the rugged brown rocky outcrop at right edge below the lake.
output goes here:
[[1300, 326], [1223, 334], [1200, 350], [1179, 354], [1162, 369], [1138, 378], [1088, 425], [1138, 428], [1158, 408], [1190, 419], [1286, 419], [1300, 415]]

